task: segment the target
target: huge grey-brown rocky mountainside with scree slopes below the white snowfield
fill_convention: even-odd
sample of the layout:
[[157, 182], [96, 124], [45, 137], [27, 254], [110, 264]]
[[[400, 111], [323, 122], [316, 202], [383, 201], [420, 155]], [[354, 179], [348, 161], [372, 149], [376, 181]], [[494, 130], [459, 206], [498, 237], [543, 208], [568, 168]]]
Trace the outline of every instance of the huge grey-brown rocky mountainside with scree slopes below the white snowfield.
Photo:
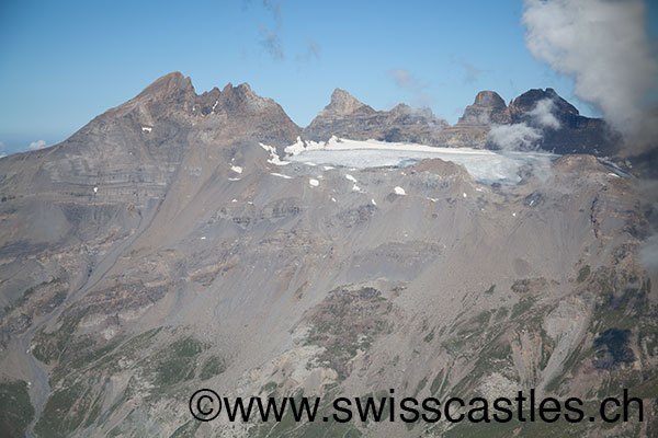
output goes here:
[[[334, 95], [317, 132], [421, 129]], [[534, 110], [523, 102], [512, 112], [485, 93], [463, 123]], [[0, 430], [658, 433], [658, 297], [637, 255], [649, 207], [632, 178], [592, 155], [523, 169], [517, 185], [442, 160], [285, 163], [309, 128], [246, 84], [197, 95], [172, 73], [65, 142], [1, 159]], [[592, 408], [622, 387], [645, 400], [639, 426], [202, 424], [188, 412], [200, 388], [322, 395], [322, 416], [334, 396], [389, 388], [441, 400], [536, 388]]]

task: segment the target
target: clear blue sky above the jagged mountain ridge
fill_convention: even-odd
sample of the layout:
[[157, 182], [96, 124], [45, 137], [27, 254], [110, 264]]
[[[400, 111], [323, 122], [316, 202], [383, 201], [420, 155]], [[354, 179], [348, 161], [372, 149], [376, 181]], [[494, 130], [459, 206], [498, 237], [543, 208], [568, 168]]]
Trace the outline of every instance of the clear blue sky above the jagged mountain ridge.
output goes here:
[[[376, 110], [429, 105], [450, 123], [479, 90], [509, 101], [552, 87], [597, 115], [574, 97], [570, 78], [529, 54], [522, 7], [521, 0], [4, 0], [0, 142], [9, 153], [37, 140], [61, 141], [174, 70], [190, 76], [197, 93], [249, 82], [300, 126], [336, 87]], [[647, 18], [654, 36], [657, 9]]]

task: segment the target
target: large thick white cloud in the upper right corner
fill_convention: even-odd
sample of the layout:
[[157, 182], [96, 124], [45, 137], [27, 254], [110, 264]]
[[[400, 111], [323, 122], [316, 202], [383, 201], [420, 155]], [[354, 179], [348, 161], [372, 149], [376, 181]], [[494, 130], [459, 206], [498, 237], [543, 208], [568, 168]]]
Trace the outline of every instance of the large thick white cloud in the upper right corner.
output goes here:
[[522, 22], [535, 58], [572, 76], [578, 97], [615, 129], [636, 135], [658, 78], [646, 16], [643, 0], [525, 0]]

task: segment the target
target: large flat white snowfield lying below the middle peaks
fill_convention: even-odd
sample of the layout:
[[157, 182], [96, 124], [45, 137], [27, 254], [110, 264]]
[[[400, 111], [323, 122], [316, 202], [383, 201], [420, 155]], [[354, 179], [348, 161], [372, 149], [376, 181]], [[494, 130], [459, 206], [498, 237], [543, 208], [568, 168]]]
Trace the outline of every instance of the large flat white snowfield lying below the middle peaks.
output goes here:
[[536, 174], [548, 172], [558, 155], [547, 152], [491, 151], [469, 148], [436, 148], [415, 143], [394, 143], [377, 140], [347, 140], [332, 137], [326, 142], [297, 139], [284, 149], [286, 161], [341, 165], [365, 169], [404, 168], [428, 158], [452, 161], [466, 168], [476, 181], [518, 183], [522, 166], [531, 165]]

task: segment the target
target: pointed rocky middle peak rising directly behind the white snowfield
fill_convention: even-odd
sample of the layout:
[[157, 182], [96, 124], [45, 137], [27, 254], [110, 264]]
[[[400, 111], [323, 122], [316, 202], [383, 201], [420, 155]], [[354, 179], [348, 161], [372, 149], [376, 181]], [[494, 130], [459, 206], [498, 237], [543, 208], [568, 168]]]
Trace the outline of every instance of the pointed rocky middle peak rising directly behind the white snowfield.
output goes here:
[[337, 136], [354, 140], [412, 141], [436, 146], [439, 134], [447, 126], [429, 108], [418, 110], [399, 104], [390, 111], [375, 111], [347, 91], [336, 89], [329, 105], [304, 129], [303, 137], [313, 141], [326, 141]]

